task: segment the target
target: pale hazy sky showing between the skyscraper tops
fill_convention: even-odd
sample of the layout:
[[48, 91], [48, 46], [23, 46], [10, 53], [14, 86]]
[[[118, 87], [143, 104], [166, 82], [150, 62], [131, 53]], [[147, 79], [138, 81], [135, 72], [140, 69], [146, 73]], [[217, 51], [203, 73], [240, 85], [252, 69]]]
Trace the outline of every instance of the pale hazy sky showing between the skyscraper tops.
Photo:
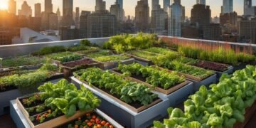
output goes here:
[[[0, 9], [6, 8], [6, 5], [9, 0], [0, 0]], [[17, 1], [17, 9], [21, 9], [21, 4], [24, 0], [16, 0]], [[114, 4], [115, 0], [105, 0], [107, 3], [107, 10], [110, 10], [110, 5]], [[124, 11], [125, 15], [134, 16], [135, 15], [135, 6], [137, 5], [138, 0], [124, 0]], [[163, 0], [159, 0], [161, 8], [163, 7]], [[212, 17], [219, 16], [220, 14], [220, 6], [222, 5], [223, 0], [206, 0], [206, 4], [210, 5], [210, 9], [212, 11]], [[44, 11], [44, 0], [27, 0], [28, 5], [34, 9], [34, 4], [41, 3], [42, 11]], [[234, 2], [234, 11], [238, 12], [238, 15], [243, 14], [243, 0], [233, 0]], [[181, 0], [181, 4], [186, 8], [186, 16], [191, 16], [191, 9], [194, 4], [196, 4], [196, 0]], [[252, 5], [255, 5], [255, 0], [252, 0]], [[53, 11], [56, 12], [58, 7], [60, 7], [60, 11], [62, 11], [62, 0], [53, 0]], [[80, 7], [80, 11], [94, 11], [95, 10], [95, 0], [74, 0], [74, 11], [75, 7]], [[149, 8], [151, 8], [151, 0], [149, 0]], [[34, 14], [34, 13], [33, 13]], [[151, 13], [150, 13], [151, 14]]]

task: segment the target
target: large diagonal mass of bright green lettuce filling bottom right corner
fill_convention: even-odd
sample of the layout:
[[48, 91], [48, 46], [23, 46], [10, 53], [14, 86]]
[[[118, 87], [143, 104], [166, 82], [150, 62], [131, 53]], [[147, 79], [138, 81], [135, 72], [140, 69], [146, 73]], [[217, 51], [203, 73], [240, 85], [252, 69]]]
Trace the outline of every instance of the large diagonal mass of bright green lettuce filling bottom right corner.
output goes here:
[[[154, 122], [154, 127], [227, 127], [245, 121], [245, 109], [256, 100], [256, 68], [247, 65], [233, 75], [223, 75], [218, 84], [202, 86], [198, 92], [184, 102], [185, 113], [174, 115], [169, 109], [169, 119], [164, 123]], [[183, 116], [185, 115], [185, 117]]]

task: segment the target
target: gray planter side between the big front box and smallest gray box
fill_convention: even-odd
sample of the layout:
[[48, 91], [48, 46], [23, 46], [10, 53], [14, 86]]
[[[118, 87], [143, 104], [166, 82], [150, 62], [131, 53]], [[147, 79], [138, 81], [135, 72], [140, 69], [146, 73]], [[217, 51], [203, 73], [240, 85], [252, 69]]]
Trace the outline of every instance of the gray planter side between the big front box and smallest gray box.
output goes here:
[[166, 97], [169, 100], [170, 107], [177, 107], [177, 105], [187, 100], [189, 95], [193, 95], [193, 82], [189, 82], [188, 85], [181, 87], [169, 95], [165, 95], [161, 92], [156, 93], [162, 95], [162, 97]]

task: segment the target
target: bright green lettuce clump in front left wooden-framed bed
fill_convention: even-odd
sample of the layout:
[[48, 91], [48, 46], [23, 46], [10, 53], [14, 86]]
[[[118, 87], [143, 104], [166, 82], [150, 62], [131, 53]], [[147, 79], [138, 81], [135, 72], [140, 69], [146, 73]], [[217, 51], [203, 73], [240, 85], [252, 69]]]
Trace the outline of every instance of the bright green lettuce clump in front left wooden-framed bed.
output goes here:
[[67, 80], [60, 80], [58, 83], [46, 83], [38, 87], [41, 91], [41, 99], [45, 100], [47, 107], [53, 110], [60, 110], [67, 117], [72, 117], [77, 110], [92, 111], [100, 106], [100, 100], [90, 90], [81, 86], [81, 90]]

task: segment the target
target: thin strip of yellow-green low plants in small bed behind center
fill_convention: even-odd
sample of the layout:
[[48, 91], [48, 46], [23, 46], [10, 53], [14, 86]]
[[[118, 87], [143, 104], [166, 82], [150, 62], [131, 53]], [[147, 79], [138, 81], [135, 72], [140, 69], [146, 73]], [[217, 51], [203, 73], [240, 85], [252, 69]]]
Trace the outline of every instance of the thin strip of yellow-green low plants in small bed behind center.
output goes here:
[[107, 56], [100, 56], [95, 58], [95, 60], [98, 60], [100, 62], [110, 62], [110, 61], [121, 61], [121, 60], [127, 60], [128, 57], [123, 55], [107, 55]]

